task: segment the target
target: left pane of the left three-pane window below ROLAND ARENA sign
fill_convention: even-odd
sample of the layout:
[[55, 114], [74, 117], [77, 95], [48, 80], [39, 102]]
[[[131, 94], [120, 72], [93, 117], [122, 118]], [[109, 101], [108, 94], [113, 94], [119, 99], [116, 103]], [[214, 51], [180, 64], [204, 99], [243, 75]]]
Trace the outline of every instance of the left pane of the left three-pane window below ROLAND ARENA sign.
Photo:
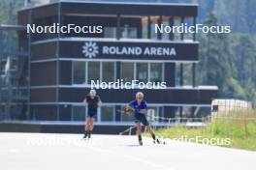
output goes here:
[[85, 83], [85, 63], [73, 62], [73, 83], [83, 84]]

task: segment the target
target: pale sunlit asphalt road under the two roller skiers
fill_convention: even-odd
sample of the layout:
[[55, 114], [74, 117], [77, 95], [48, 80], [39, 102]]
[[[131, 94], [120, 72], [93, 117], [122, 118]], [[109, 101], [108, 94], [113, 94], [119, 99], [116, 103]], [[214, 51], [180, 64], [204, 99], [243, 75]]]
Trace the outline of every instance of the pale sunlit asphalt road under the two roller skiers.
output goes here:
[[136, 136], [0, 133], [1, 170], [255, 170], [256, 152]]

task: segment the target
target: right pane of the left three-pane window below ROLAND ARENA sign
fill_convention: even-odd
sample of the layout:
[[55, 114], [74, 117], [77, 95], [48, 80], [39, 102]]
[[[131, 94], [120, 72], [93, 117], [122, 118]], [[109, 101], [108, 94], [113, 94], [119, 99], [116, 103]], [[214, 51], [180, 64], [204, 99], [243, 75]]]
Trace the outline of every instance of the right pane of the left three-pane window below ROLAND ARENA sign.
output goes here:
[[114, 81], [114, 63], [112, 62], [102, 63], [102, 81], [104, 82]]

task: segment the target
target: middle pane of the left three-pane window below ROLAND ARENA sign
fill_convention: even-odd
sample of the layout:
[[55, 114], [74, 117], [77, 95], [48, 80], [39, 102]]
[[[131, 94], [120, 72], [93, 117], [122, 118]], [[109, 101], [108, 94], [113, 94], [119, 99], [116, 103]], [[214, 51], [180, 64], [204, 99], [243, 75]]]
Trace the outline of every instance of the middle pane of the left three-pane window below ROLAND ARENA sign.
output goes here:
[[88, 84], [100, 80], [100, 62], [88, 62]]

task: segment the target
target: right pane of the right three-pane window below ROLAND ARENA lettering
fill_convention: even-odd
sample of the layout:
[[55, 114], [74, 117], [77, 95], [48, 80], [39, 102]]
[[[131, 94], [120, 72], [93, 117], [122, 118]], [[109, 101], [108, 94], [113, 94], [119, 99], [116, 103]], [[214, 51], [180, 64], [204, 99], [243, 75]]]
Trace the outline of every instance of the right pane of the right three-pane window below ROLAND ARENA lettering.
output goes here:
[[150, 81], [161, 82], [163, 80], [163, 64], [151, 63], [150, 64]]

